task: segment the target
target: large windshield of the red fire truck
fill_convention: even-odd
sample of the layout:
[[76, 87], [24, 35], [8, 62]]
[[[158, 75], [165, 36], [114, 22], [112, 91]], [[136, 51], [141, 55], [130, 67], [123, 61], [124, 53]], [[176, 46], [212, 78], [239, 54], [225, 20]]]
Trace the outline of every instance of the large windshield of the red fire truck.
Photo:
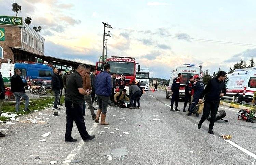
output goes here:
[[132, 62], [108, 61], [108, 63], [111, 73], [123, 74], [125, 76], [134, 75], [134, 63]]

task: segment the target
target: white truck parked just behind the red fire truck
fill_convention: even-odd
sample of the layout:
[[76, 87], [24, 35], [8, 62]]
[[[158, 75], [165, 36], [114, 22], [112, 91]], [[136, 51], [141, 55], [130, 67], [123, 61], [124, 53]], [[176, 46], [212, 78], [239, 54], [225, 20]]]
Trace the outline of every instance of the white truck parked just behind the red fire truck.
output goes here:
[[136, 81], [140, 81], [140, 86], [144, 88], [145, 91], [148, 91], [149, 88], [149, 69], [140, 68], [140, 71], [137, 71]]

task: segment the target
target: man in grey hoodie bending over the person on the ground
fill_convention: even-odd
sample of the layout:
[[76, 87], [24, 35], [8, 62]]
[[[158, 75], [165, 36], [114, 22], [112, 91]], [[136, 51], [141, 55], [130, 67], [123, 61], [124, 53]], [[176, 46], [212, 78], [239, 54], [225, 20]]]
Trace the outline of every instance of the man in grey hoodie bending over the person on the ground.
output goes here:
[[141, 91], [135, 81], [132, 82], [132, 85], [129, 85], [129, 97], [130, 97], [130, 109], [135, 109], [137, 99], [141, 96]]

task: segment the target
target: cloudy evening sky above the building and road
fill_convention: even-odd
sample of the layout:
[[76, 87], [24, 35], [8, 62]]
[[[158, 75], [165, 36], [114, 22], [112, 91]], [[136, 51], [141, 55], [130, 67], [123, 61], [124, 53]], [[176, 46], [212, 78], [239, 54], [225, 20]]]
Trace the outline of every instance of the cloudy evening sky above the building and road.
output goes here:
[[[135, 57], [151, 77], [169, 79], [176, 66], [202, 63], [212, 74], [228, 72], [243, 59], [256, 61], [256, 46], [201, 42], [188, 38], [256, 45], [254, 0], [0, 0], [0, 15], [16, 15], [12, 3], [22, 6], [18, 16], [42, 27], [44, 54], [94, 64], [102, 55], [103, 24], [113, 29], [108, 57]], [[175, 35], [178, 38], [131, 31]]]

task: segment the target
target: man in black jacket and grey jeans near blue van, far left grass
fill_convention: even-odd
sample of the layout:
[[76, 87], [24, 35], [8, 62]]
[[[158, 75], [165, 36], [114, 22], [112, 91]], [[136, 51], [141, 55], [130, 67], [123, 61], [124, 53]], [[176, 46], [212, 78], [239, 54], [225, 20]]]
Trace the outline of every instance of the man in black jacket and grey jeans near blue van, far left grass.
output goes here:
[[[13, 92], [13, 95], [16, 100], [16, 112], [19, 111], [19, 104], [20, 104], [21, 98], [25, 100], [24, 111], [29, 111], [28, 109], [29, 98], [25, 92], [24, 84], [22, 82], [22, 78], [20, 75], [21, 75], [21, 71], [19, 69], [15, 69], [14, 75], [10, 79], [11, 91]], [[27, 83], [25, 85], [27, 85]]]

